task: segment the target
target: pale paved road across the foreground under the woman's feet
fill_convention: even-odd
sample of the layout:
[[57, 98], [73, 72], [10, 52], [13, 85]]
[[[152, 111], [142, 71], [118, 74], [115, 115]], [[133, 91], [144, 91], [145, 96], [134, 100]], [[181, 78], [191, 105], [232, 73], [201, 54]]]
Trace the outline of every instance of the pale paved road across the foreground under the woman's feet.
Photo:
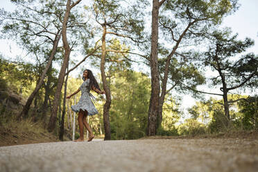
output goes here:
[[258, 141], [139, 139], [0, 147], [0, 171], [258, 171]]

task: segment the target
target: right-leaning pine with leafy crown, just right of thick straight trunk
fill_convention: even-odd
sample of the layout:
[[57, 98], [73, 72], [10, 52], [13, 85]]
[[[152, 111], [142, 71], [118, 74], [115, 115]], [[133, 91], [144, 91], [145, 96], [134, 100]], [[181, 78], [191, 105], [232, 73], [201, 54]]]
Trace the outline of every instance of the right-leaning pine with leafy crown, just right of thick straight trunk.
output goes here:
[[[160, 15], [160, 24], [162, 25], [163, 35], [165, 37], [167, 37], [166, 35], [170, 35], [170, 39], [166, 39], [168, 40], [166, 42], [173, 46], [169, 49], [165, 46], [168, 53], [165, 58], [162, 58], [162, 60], [165, 60], [166, 62], [164, 64], [164, 73], [162, 75], [162, 92], [160, 95], [158, 125], [162, 120], [162, 106], [167, 93], [166, 87], [170, 73], [169, 71], [171, 68], [174, 68], [172, 69], [173, 71], [177, 71], [176, 67], [171, 64], [171, 62], [175, 61], [172, 59], [174, 58], [178, 59], [178, 61], [182, 61], [180, 60], [181, 56], [181, 59], [184, 61], [187, 60], [190, 63], [195, 60], [189, 55], [182, 55], [184, 54], [184, 51], [180, 50], [180, 46], [190, 47], [192, 46], [191, 43], [198, 44], [207, 30], [213, 28], [212, 26], [220, 24], [223, 17], [236, 10], [236, 2], [237, 1], [235, 0], [166, 1], [162, 14]], [[207, 26], [209, 26], [209, 28]], [[191, 55], [193, 55], [193, 53]], [[189, 70], [191, 71], [191, 69]]]

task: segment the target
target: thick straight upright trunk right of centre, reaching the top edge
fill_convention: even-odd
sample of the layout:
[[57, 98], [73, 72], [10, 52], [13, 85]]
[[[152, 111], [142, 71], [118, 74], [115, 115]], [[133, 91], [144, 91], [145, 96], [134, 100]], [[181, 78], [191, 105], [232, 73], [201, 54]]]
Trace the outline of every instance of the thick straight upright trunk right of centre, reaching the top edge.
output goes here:
[[152, 26], [151, 26], [151, 49], [150, 49], [150, 74], [151, 95], [148, 109], [147, 135], [152, 136], [157, 132], [157, 115], [160, 101], [160, 78], [157, 65], [157, 42], [158, 42], [158, 17], [159, 1], [153, 0]]

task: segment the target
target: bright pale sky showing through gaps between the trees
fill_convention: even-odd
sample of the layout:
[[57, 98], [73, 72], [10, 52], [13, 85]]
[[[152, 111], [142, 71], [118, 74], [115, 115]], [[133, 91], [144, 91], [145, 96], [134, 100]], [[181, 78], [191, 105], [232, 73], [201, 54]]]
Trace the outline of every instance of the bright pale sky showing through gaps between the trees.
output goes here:
[[[239, 34], [239, 39], [243, 40], [245, 37], [250, 37], [252, 40], [255, 40], [255, 46], [248, 49], [247, 52], [253, 52], [258, 55], [258, 19], [257, 19], [257, 0], [239, 0], [241, 6], [239, 10], [234, 12], [233, 15], [225, 17], [223, 20], [223, 27], [232, 28], [233, 33]], [[0, 8], [4, 8], [5, 10], [12, 11], [15, 9], [15, 6], [10, 3], [10, 0], [1, 0]], [[16, 46], [15, 42], [12, 40], [0, 40], [0, 53], [5, 57], [15, 57], [16, 55], [24, 56], [26, 52], [19, 49]], [[214, 90], [209, 89], [207, 87], [198, 87], [199, 89], [203, 89], [202, 91], [206, 92], [214, 92]], [[216, 90], [215, 92], [221, 93]], [[207, 96], [206, 98], [208, 98]], [[182, 99], [183, 107], [191, 107], [195, 103], [195, 99], [191, 98], [191, 96], [184, 96]]]

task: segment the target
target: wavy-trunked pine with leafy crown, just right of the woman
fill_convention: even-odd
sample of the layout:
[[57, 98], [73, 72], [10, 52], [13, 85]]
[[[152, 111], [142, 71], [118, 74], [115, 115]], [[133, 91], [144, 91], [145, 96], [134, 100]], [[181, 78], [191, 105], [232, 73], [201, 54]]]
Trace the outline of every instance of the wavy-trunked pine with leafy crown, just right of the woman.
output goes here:
[[[129, 3], [130, 4], [130, 3]], [[105, 139], [111, 139], [109, 111], [111, 105], [110, 87], [107, 84], [107, 76], [105, 71], [105, 62], [113, 61], [114, 53], [121, 53], [122, 57], [126, 58], [125, 53], [128, 49], [119, 49], [116, 46], [116, 39], [119, 38], [123, 42], [141, 42], [141, 31], [143, 30], [143, 19], [141, 12], [137, 6], [126, 6], [123, 8], [121, 1], [94, 1], [94, 16], [98, 26], [101, 26], [101, 78], [103, 82], [103, 89], [105, 90], [106, 101], [103, 107], [103, 123], [105, 129]], [[116, 37], [115, 39], [110, 37]], [[121, 41], [121, 42], [122, 42]], [[107, 45], [113, 44], [113, 46]], [[110, 48], [110, 49], [107, 49]], [[114, 60], [115, 61], [115, 60]]]

